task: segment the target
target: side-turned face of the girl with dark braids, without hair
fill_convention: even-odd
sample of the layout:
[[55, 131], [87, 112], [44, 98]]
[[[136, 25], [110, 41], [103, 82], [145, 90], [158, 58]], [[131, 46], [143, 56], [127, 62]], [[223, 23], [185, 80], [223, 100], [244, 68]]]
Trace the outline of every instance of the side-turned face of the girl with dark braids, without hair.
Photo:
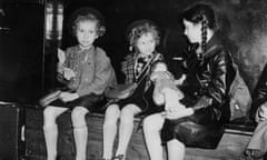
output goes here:
[[201, 42], [201, 24], [192, 23], [190, 21], [184, 20], [185, 32], [184, 34], [188, 38], [191, 43]]

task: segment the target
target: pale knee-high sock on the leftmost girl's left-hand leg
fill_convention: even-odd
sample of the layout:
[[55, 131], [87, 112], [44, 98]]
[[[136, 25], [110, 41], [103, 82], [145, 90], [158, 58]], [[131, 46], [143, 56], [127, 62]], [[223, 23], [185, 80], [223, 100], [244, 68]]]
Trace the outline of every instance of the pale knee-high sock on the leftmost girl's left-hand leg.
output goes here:
[[47, 160], [56, 160], [58, 127], [57, 126], [43, 127], [43, 133], [47, 146]]

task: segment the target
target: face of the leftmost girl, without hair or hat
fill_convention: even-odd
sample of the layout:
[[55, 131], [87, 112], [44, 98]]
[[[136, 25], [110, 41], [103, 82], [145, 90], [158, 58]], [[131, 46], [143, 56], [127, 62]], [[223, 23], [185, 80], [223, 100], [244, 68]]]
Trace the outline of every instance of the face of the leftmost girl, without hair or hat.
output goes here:
[[98, 38], [96, 21], [80, 21], [76, 31], [77, 40], [82, 48], [90, 48]]

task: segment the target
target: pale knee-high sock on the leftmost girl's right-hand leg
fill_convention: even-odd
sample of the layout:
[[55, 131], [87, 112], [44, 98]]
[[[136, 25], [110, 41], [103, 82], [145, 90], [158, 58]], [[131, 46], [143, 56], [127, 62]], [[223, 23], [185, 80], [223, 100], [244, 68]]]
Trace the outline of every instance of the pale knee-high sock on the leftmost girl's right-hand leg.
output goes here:
[[75, 127], [75, 141], [76, 141], [76, 160], [86, 160], [87, 153], [87, 126]]

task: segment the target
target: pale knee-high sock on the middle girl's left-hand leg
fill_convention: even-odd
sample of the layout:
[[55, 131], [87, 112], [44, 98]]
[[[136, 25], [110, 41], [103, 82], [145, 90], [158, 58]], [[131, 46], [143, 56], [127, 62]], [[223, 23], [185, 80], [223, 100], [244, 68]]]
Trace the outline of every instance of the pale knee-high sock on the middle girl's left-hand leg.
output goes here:
[[103, 124], [103, 159], [111, 159], [113, 152], [113, 143], [117, 134], [117, 123]]

